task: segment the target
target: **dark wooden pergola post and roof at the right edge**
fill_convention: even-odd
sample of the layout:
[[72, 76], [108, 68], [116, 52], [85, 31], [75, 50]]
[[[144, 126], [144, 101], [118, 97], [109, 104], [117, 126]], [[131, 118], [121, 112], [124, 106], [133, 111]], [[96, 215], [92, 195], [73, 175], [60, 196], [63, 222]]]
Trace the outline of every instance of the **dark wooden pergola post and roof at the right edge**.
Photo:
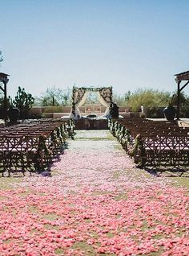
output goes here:
[[[189, 84], [189, 71], [175, 74], [175, 81], [177, 82], [177, 120], [180, 117], [180, 92]], [[182, 81], [187, 81], [180, 87]]]

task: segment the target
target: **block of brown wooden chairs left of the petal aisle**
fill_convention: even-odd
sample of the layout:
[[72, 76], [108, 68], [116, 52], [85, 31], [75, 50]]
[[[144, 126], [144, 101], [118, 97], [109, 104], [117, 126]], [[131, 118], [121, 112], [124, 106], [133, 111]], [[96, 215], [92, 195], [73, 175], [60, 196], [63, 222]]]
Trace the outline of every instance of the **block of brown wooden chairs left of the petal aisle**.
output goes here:
[[0, 172], [44, 171], [74, 136], [70, 120], [22, 123], [0, 129]]

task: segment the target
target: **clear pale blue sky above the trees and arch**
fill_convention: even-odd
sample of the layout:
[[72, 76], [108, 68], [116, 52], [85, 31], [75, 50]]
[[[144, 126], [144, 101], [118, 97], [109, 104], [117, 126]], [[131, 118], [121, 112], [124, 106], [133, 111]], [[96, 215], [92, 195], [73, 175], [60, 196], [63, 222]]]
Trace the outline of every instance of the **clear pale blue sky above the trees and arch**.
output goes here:
[[0, 72], [10, 74], [10, 95], [18, 85], [34, 96], [73, 85], [173, 92], [174, 74], [189, 70], [187, 0], [0, 0], [0, 6]]

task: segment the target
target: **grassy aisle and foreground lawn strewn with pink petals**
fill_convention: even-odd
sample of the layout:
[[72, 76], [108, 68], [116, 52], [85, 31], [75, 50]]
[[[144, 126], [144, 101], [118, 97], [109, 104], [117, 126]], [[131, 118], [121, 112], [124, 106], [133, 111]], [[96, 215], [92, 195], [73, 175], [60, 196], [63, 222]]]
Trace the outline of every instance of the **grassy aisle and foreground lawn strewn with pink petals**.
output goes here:
[[0, 200], [0, 255], [189, 254], [187, 188], [135, 168], [106, 130], [78, 131], [51, 177]]

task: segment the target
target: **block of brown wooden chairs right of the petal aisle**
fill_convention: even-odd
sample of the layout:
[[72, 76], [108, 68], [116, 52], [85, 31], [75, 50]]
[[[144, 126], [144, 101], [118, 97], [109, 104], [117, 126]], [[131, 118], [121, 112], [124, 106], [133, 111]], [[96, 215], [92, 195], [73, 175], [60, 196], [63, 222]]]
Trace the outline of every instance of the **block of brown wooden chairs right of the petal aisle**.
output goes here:
[[176, 122], [111, 119], [111, 133], [139, 167], [189, 169], [189, 129]]

